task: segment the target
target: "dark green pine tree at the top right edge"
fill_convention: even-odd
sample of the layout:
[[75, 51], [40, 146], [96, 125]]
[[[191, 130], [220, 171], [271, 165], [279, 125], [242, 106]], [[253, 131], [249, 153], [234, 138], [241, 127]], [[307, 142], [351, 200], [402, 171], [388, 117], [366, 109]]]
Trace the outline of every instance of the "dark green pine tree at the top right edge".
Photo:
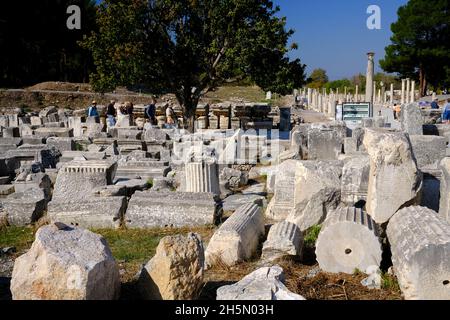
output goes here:
[[450, 80], [450, 1], [410, 0], [398, 10], [391, 26], [392, 44], [380, 61], [387, 72], [416, 79], [420, 93], [429, 84], [448, 85]]

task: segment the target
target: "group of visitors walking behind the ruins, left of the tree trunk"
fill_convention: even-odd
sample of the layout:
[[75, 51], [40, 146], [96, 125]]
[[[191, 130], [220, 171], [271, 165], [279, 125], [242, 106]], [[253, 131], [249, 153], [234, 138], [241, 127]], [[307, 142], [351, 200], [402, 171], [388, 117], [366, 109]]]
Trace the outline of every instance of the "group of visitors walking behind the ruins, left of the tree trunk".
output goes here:
[[[147, 123], [151, 125], [158, 125], [158, 120], [156, 119], [156, 98], [152, 98], [151, 103], [145, 106], [144, 118]], [[119, 114], [118, 114], [119, 112]], [[134, 106], [131, 102], [120, 103], [118, 108], [116, 108], [116, 101], [111, 100], [106, 107], [106, 120], [108, 121], [109, 127], [114, 127], [117, 123], [117, 117], [120, 116], [130, 116], [133, 117]], [[97, 110], [97, 101], [92, 101], [88, 108], [87, 115], [89, 118], [95, 118], [97, 123], [100, 122], [100, 114]], [[175, 128], [177, 127], [177, 117], [173, 110], [172, 104], [169, 104], [166, 108], [166, 123], [165, 128]]]

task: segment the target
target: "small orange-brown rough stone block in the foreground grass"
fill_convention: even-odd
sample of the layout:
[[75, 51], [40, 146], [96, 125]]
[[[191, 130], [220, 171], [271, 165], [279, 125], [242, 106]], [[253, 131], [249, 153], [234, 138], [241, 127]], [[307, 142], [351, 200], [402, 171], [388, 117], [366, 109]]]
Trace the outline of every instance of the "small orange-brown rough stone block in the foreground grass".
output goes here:
[[139, 289], [149, 300], [194, 300], [203, 285], [204, 249], [199, 235], [168, 236], [142, 269]]

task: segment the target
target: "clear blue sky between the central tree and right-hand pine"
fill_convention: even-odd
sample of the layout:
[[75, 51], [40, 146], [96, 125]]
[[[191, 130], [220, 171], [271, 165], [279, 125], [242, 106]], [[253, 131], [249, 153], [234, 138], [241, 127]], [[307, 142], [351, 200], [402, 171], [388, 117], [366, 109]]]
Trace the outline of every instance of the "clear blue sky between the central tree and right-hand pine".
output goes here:
[[[378, 60], [390, 44], [391, 24], [397, 10], [407, 0], [274, 0], [287, 18], [287, 27], [296, 32], [292, 41], [299, 49], [291, 56], [306, 64], [307, 74], [315, 68], [327, 70], [330, 80], [365, 73], [366, 53], [375, 52], [376, 72], [382, 71]], [[381, 8], [381, 30], [366, 25], [370, 5]]]

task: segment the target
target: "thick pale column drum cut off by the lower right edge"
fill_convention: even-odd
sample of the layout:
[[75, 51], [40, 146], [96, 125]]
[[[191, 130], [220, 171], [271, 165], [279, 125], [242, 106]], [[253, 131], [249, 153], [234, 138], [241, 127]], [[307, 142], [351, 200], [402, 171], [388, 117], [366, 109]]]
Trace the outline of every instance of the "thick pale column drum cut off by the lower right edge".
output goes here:
[[407, 300], [450, 299], [450, 224], [424, 207], [408, 207], [389, 221], [387, 236]]

